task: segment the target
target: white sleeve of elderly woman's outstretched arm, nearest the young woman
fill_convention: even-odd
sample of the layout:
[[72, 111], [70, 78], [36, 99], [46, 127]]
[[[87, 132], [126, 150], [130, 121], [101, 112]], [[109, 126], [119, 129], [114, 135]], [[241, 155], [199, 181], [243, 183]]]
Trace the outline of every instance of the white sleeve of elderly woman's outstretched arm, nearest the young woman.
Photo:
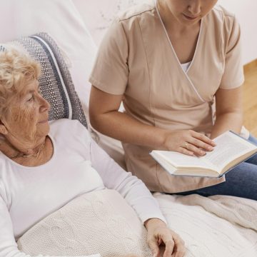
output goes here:
[[91, 141], [90, 148], [92, 166], [98, 171], [106, 188], [118, 191], [142, 222], [149, 218], [166, 221], [156, 198], [153, 198], [141, 180], [124, 171], [96, 142]]

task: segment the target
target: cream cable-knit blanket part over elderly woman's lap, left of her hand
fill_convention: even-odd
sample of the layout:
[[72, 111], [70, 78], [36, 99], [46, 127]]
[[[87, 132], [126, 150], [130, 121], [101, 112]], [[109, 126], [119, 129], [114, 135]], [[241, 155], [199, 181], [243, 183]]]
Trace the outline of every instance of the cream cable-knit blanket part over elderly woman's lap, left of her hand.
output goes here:
[[152, 256], [146, 228], [114, 190], [86, 193], [24, 233], [18, 248], [31, 256]]

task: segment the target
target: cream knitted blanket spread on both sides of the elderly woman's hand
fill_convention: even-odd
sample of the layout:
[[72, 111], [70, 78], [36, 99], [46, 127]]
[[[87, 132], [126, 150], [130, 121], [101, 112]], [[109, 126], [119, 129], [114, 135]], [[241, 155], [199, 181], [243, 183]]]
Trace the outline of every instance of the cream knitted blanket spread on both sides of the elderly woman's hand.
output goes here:
[[[155, 193], [168, 226], [186, 242], [186, 257], [256, 257], [257, 202], [231, 196]], [[46, 217], [18, 241], [32, 256], [149, 257], [146, 230], [116, 191], [87, 193]]]

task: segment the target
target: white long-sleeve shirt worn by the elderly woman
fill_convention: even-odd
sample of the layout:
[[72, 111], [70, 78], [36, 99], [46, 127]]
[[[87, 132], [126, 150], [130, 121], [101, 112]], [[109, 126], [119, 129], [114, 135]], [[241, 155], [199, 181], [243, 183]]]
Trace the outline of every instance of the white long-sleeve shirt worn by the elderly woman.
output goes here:
[[138, 214], [165, 221], [146, 186], [124, 171], [90, 137], [79, 121], [51, 121], [51, 159], [26, 167], [0, 152], [0, 257], [29, 257], [16, 239], [42, 218], [83, 193], [115, 189]]

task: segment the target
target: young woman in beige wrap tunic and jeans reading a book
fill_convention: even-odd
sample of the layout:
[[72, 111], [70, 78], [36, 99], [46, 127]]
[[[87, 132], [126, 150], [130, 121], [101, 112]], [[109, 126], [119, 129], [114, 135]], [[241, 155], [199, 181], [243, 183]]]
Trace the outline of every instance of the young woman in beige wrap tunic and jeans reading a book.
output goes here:
[[[197, 193], [256, 199], [256, 158], [226, 178], [196, 178], [171, 176], [148, 154], [163, 149], [203, 156], [215, 148], [211, 138], [241, 131], [240, 29], [233, 14], [216, 2], [157, 0], [121, 14], [91, 74], [90, 120], [101, 133], [123, 142], [128, 170], [151, 191], [205, 188]], [[121, 101], [124, 113], [118, 111]]]

